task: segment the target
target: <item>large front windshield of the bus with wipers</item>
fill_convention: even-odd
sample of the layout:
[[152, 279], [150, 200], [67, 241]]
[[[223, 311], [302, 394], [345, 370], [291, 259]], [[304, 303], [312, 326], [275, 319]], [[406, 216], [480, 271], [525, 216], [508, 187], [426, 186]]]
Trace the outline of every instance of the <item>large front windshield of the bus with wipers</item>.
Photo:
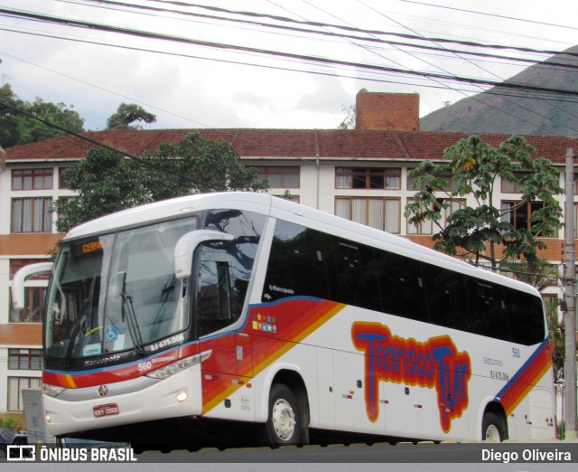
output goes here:
[[185, 218], [65, 242], [47, 296], [46, 354], [65, 363], [134, 350], [189, 325], [173, 250]]

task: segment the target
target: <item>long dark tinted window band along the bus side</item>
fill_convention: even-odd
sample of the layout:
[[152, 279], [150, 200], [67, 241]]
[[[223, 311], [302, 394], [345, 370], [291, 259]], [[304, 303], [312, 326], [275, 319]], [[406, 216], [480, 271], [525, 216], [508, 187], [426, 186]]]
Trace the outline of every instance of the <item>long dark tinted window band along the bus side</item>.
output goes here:
[[539, 297], [277, 221], [263, 300], [292, 296], [331, 297], [524, 345], [545, 338]]

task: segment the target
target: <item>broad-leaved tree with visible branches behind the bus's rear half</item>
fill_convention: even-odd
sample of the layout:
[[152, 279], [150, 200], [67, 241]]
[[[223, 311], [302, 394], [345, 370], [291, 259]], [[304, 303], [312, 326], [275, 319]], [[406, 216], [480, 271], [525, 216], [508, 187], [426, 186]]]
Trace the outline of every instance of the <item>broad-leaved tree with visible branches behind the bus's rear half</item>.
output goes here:
[[[477, 136], [461, 139], [445, 149], [443, 158], [448, 162], [424, 161], [411, 172], [415, 188], [421, 190], [406, 205], [409, 222], [432, 221], [439, 230], [433, 234], [436, 250], [476, 264], [485, 260], [496, 268], [504, 260], [536, 260], [537, 250], [546, 247], [539, 238], [553, 236], [562, 226], [562, 208], [554, 196], [563, 190], [552, 162], [537, 156], [536, 149], [519, 136], [509, 137], [497, 148]], [[522, 196], [515, 206], [494, 206], [500, 181], [517, 185]], [[443, 226], [442, 212], [468, 195], [475, 205], [452, 212]], [[510, 213], [536, 201], [543, 204], [532, 212], [530, 228], [516, 227]]]

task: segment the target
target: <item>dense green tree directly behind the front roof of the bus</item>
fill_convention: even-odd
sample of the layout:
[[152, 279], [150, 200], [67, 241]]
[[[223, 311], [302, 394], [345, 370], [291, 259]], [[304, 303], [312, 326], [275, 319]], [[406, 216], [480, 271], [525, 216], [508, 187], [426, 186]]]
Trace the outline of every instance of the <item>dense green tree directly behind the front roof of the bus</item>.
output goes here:
[[65, 178], [78, 197], [54, 203], [61, 232], [111, 212], [176, 196], [269, 188], [254, 169], [241, 164], [230, 143], [198, 133], [162, 144], [139, 160], [107, 148], [90, 149], [67, 169]]

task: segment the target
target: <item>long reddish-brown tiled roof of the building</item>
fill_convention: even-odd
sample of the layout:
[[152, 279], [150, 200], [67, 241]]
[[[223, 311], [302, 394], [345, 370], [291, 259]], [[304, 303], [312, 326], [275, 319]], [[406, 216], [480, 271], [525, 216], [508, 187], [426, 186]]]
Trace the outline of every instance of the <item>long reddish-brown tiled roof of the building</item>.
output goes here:
[[[210, 139], [223, 138], [243, 157], [322, 157], [377, 159], [441, 159], [443, 150], [468, 133], [432, 131], [368, 131], [354, 129], [155, 129], [129, 131], [90, 131], [83, 135], [114, 146], [129, 155], [141, 156], [161, 143], [175, 142], [187, 133], [199, 132]], [[498, 146], [509, 135], [480, 135]], [[563, 164], [566, 148], [576, 146], [569, 137], [530, 136], [528, 142], [538, 154]], [[78, 137], [57, 137], [38, 143], [6, 149], [9, 162], [39, 159], [79, 159], [90, 147]], [[578, 146], [576, 146], [578, 152]]]

